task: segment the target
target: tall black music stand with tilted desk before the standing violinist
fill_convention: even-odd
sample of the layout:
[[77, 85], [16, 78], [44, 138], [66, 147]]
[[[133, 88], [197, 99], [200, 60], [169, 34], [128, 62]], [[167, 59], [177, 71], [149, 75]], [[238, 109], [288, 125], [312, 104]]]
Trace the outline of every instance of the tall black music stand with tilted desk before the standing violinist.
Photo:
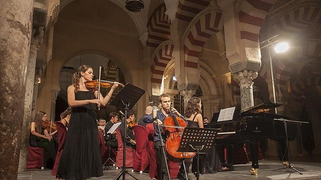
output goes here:
[[114, 105], [119, 108], [125, 109], [125, 120], [124, 120], [124, 153], [123, 153], [123, 168], [119, 175], [115, 178], [115, 180], [119, 180], [123, 175], [123, 180], [125, 180], [125, 174], [129, 174], [135, 180], [138, 180], [134, 175], [132, 175], [128, 170], [126, 170], [126, 129], [127, 129], [127, 110], [131, 109], [137, 101], [142, 97], [145, 93], [145, 90], [142, 90], [132, 84], [127, 84], [124, 88], [122, 88], [114, 97], [110, 105]]

